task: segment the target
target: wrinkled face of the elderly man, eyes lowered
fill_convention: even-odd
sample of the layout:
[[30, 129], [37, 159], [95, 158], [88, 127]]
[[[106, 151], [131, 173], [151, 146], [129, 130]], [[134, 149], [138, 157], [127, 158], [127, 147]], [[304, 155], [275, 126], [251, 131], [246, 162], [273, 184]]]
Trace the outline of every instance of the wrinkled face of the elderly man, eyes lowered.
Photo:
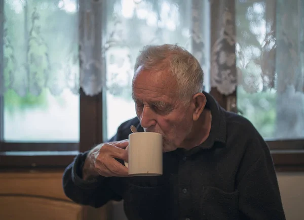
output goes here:
[[193, 112], [178, 97], [176, 80], [168, 72], [135, 73], [132, 92], [136, 114], [146, 132], [163, 135], [164, 152], [181, 146], [193, 126]]

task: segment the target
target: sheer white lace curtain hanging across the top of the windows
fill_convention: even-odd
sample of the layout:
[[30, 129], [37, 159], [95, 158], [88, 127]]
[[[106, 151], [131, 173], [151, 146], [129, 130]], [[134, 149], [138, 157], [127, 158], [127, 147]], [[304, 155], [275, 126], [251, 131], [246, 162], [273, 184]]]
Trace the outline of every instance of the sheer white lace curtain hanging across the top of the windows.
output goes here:
[[[54, 95], [65, 88], [96, 95], [106, 87], [115, 93], [132, 77], [134, 57], [122, 49], [136, 53], [139, 38], [163, 43], [176, 29], [176, 40], [195, 54], [206, 75], [210, 70], [211, 86], [220, 93], [232, 94], [238, 85], [248, 93], [303, 93], [303, 1], [209, 2], [0, 0], [0, 94], [12, 89], [38, 95], [45, 87]], [[207, 11], [210, 37], [202, 22]], [[132, 25], [136, 16], [143, 23]], [[129, 78], [116, 80], [126, 65]]]

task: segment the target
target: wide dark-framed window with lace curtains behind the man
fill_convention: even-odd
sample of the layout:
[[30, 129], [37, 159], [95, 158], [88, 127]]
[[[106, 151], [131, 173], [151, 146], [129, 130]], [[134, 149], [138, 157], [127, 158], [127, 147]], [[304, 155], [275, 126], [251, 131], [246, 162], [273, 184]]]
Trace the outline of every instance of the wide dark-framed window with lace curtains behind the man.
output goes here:
[[[178, 43], [200, 61], [205, 91], [255, 125], [276, 165], [304, 167], [300, 0], [240, 0], [235, 5], [216, 0], [0, 4], [0, 166], [66, 166], [79, 151], [111, 138], [122, 122], [135, 117], [131, 80], [138, 51], [148, 44]], [[216, 28], [229, 7], [234, 8], [225, 21], [229, 28]], [[237, 80], [232, 80], [238, 85], [226, 96], [211, 87], [210, 48], [219, 32], [234, 32], [231, 27], [236, 27], [232, 65], [238, 69]], [[94, 96], [86, 95], [81, 85], [85, 65], [80, 48], [86, 43], [91, 43], [89, 58], [105, 61], [101, 72], [106, 73], [106, 88]], [[234, 48], [234, 42], [229, 43], [219, 45], [219, 51]], [[90, 65], [99, 68], [94, 62]], [[88, 75], [85, 79], [94, 76]]]

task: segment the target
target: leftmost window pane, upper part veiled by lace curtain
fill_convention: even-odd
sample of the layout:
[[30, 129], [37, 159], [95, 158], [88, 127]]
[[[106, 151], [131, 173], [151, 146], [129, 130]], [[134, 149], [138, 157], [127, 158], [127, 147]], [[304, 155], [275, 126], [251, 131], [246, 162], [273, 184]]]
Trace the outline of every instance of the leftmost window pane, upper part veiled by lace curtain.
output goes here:
[[6, 91], [0, 99], [0, 151], [76, 154], [80, 97], [79, 78], [72, 76], [79, 75], [77, 1], [2, 2], [0, 88]]

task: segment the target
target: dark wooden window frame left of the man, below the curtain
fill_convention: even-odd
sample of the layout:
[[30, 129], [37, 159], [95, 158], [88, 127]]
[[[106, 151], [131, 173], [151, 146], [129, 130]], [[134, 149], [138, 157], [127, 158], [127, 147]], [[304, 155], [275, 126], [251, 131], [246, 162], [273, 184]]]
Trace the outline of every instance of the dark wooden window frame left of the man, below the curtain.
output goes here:
[[[3, 140], [3, 97], [0, 97], [0, 137]], [[102, 94], [80, 91], [79, 143], [28, 143], [0, 141], [0, 168], [64, 168], [79, 152], [102, 142]], [[14, 152], [26, 151], [26, 154]], [[44, 155], [44, 152], [48, 152]]]

